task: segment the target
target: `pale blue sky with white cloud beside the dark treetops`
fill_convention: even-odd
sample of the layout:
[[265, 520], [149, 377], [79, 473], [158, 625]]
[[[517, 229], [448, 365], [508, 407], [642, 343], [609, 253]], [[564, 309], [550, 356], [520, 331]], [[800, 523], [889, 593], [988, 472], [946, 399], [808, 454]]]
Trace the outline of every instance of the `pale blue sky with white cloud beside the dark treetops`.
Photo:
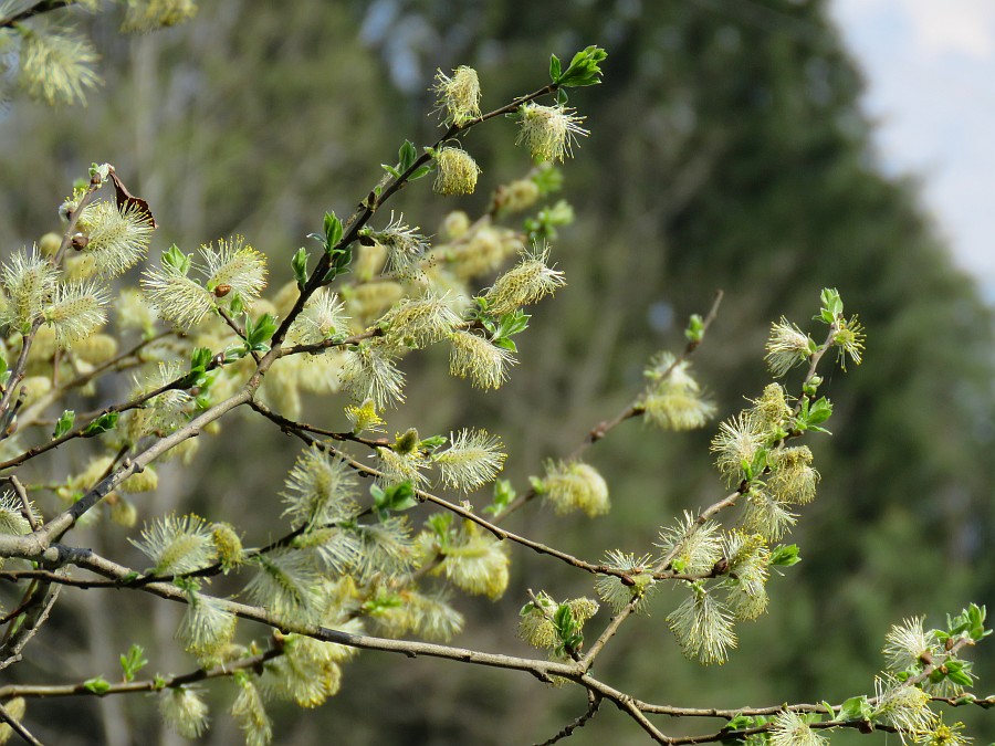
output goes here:
[[913, 172], [957, 264], [995, 301], [995, 0], [834, 0], [890, 172]]

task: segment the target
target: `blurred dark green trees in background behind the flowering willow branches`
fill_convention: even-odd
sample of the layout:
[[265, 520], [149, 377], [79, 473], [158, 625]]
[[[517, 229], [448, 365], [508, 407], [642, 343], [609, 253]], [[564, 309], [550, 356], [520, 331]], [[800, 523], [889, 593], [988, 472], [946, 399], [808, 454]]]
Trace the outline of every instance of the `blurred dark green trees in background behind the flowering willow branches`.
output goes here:
[[[769, 612], [739, 627], [727, 664], [702, 669], [667, 631], [678, 596], [663, 592], [599, 659], [605, 681], [687, 706], [840, 702], [871, 691], [890, 624], [926, 613], [939, 626], [968, 601], [993, 606], [991, 311], [924, 218], [915, 180], [882, 175], [859, 107], [861, 75], [826, 2], [227, 0], [155, 34], [122, 36], [118, 22], [81, 22], [106, 80], [87, 108], [17, 102], [3, 115], [0, 240], [10, 251], [57, 230], [55, 207], [72, 180], [109, 161], [153, 206], [161, 225], [154, 259], [172, 242], [190, 252], [239, 232], [270, 256], [273, 287], [290, 279], [291, 255], [326, 209], [348, 213], [405, 138], [434, 139], [426, 113], [437, 67], [474, 66], [493, 108], [541, 85], [551, 52], [608, 50], [605, 84], [570, 102], [591, 135], [563, 169], [577, 221], [553, 256], [568, 286], [535, 311], [522, 363], [499, 391], [478, 395], [446, 376], [442, 357], [412, 355], [409, 403], [389, 420], [422, 433], [499, 432], [511, 454], [505, 476], [522, 490], [543, 459], [565, 455], [631, 400], [649, 356], [682, 345], [687, 316], [706, 311], [715, 288], [725, 301], [694, 366], [721, 418], [767, 382], [772, 321], [785, 314], [804, 326], [824, 286], [860, 314], [866, 361], [825, 386], [834, 434], [809, 441], [823, 482], [792, 535], [804, 561], [772, 580]], [[443, 200], [418, 182], [394, 209], [429, 232], [449, 210], [483, 209], [489, 189], [530, 166], [514, 137], [511, 123], [496, 122], [467, 138], [483, 169], [479, 195]], [[306, 411], [341, 424], [337, 402]], [[609, 482], [609, 516], [557, 517], [533, 505], [509, 526], [590, 560], [610, 548], [649, 550], [661, 525], [722, 495], [708, 453], [713, 431], [628, 422], [588, 453]], [[265, 540], [297, 444], [264, 425], [226, 433], [139, 501], [143, 518], [238, 516], [249, 544]], [[85, 538], [140, 564], [124, 534], [104, 526]], [[458, 599], [467, 631], [455, 644], [530, 654], [514, 635], [526, 589], [593, 595], [588, 577], [558, 563], [517, 549], [512, 558], [504, 598]], [[171, 651], [177, 620], [161, 602], [78, 592], [11, 675], [113, 675], [132, 641], [150, 651], [150, 669], [187, 670], [191, 661]], [[603, 612], [590, 624], [606, 620]], [[995, 654], [976, 658], [985, 694]], [[213, 689], [206, 742], [238, 743], [223, 713], [231, 687]], [[548, 738], [584, 707], [576, 687], [364, 653], [318, 711], [274, 705], [272, 714], [281, 744], [523, 744]], [[995, 740], [991, 715], [955, 715], [974, 724], [978, 743]], [[28, 722], [45, 743], [174, 743], [144, 697], [32, 703]], [[646, 737], [603, 705], [570, 743]]]

